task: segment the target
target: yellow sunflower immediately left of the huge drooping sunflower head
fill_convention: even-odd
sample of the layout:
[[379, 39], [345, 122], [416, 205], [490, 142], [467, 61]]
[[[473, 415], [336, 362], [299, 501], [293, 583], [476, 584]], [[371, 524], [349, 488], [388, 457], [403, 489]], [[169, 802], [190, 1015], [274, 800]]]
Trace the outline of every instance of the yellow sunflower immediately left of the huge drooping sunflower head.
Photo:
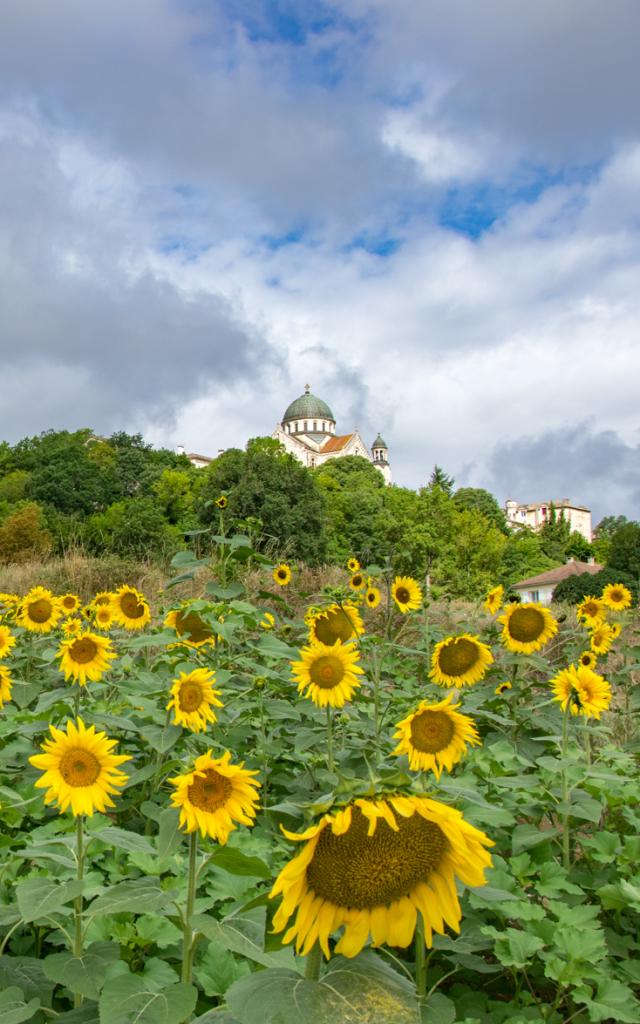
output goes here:
[[200, 829], [203, 838], [210, 836], [217, 843], [226, 843], [233, 822], [252, 825], [256, 816], [260, 783], [240, 765], [230, 764], [226, 751], [221, 758], [212, 758], [211, 751], [196, 759], [193, 771], [176, 775], [169, 782], [176, 792], [171, 794], [173, 807], [180, 808], [180, 825], [187, 833]]

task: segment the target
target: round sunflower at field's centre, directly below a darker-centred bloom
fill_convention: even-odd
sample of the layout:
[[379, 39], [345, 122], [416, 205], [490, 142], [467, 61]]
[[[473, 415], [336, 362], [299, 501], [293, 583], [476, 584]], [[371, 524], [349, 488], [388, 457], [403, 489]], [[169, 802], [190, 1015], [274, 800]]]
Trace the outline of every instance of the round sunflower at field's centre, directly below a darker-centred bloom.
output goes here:
[[353, 644], [343, 645], [340, 640], [314, 643], [303, 647], [300, 654], [300, 662], [291, 663], [298, 693], [310, 697], [318, 708], [342, 708], [351, 699], [360, 685], [356, 677], [362, 674]]

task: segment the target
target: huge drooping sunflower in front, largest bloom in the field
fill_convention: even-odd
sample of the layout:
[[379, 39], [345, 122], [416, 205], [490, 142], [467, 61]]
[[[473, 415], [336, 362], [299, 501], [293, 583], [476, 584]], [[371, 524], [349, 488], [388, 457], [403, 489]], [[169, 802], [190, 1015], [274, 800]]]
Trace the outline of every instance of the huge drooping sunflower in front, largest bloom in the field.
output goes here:
[[302, 954], [317, 941], [329, 957], [329, 937], [343, 925], [335, 950], [343, 956], [356, 956], [370, 934], [374, 946], [408, 946], [418, 911], [431, 946], [445, 924], [460, 931], [456, 876], [484, 885], [492, 863], [484, 849], [492, 841], [460, 811], [427, 797], [355, 800], [301, 835], [283, 830], [305, 845], [271, 889], [271, 897], [283, 897], [273, 930], [296, 913], [283, 941], [295, 941]]

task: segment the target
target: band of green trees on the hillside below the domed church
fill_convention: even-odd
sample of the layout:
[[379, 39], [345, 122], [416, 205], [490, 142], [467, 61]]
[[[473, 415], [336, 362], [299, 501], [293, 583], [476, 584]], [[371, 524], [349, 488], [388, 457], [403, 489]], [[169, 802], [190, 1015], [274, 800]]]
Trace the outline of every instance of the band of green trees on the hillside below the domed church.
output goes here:
[[428, 579], [434, 596], [477, 598], [569, 557], [640, 575], [637, 522], [607, 517], [593, 545], [554, 512], [537, 534], [512, 530], [493, 495], [456, 488], [438, 466], [414, 490], [386, 486], [356, 456], [306, 469], [269, 437], [230, 449], [206, 469], [124, 432], [49, 430], [0, 444], [0, 562], [77, 548], [168, 561], [191, 544], [206, 551], [221, 516], [227, 531], [249, 532], [274, 558], [388, 562]]

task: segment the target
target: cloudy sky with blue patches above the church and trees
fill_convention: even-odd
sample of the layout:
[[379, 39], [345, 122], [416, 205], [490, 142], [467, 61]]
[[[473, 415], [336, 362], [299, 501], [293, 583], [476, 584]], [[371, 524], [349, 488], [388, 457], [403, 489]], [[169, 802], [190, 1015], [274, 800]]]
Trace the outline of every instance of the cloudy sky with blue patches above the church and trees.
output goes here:
[[636, 0], [3, 0], [0, 439], [215, 456], [309, 383], [640, 517]]

